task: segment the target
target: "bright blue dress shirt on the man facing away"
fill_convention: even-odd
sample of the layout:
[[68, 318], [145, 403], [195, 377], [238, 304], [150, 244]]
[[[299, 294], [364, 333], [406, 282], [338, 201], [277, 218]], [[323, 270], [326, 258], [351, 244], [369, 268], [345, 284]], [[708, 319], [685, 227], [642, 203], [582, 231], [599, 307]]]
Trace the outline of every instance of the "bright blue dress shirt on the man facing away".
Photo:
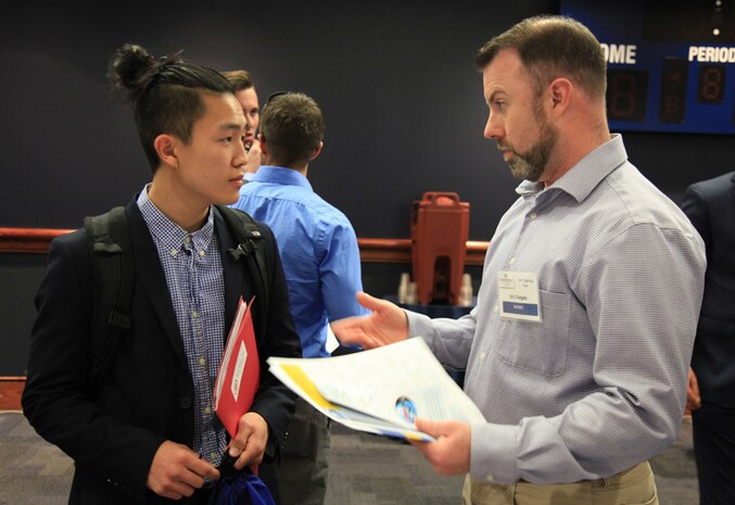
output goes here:
[[278, 166], [262, 166], [232, 206], [276, 236], [303, 356], [329, 356], [328, 323], [368, 313], [355, 299], [363, 281], [352, 224], [304, 175]]

